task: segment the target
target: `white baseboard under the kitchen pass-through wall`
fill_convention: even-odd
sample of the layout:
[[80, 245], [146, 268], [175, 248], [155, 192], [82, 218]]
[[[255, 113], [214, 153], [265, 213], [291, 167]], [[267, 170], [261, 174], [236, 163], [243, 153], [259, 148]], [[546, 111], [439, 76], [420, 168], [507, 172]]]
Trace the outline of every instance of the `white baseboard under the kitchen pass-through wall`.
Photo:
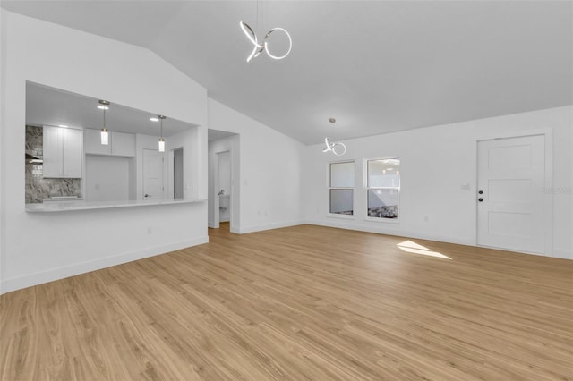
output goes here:
[[191, 246], [209, 243], [209, 236], [194, 238], [192, 240], [178, 241], [167, 245], [154, 246], [145, 250], [135, 250], [125, 252], [123, 254], [93, 259], [86, 262], [77, 263], [66, 267], [52, 268], [47, 271], [42, 271], [35, 274], [23, 275], [11, 279], [5, 279], [0, 283], [0, 294], [21, 290], [23, 288], [35, 286], [38, 284], [45, 284], [59, 279], [64, 279], [74, 275], [80, 275], [96, 271], [101, 268], [122, 265], [134, 260], [155, 257], [157, 255], [166, 254], [171, 251], [181, 250]]

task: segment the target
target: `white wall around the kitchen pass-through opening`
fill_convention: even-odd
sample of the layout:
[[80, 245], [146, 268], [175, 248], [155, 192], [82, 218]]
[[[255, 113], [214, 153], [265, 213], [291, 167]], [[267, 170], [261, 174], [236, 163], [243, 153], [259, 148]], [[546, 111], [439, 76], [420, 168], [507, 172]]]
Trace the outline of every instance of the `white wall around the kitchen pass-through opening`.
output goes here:
[[205, 199], [207, 92], [141, 47], [4, 10], [0, 17], [0, 292], [208, 241], [206, 202], [25, 212], [26, 80], [200, 125], [192, 191]]

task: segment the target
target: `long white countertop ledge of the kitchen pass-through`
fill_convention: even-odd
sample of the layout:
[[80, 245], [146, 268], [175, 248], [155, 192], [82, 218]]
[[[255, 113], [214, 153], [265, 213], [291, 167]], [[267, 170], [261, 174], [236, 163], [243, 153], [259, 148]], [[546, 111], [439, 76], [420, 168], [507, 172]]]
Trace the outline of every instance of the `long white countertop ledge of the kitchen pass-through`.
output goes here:
[[190, 204], [193, 202], [203, 202], [207, 199], [146, 199], [130, 201], [84, 201], [80, 199], [54, 201], [42, 204], [26, 204], [26, 211], [30, 213], [52, 213], [66, 212], [72, 210], [90, 210], [90, 209], [107, 209], [112, 207], [149, 207], [152, 205], [173, 205], [173, 204]]

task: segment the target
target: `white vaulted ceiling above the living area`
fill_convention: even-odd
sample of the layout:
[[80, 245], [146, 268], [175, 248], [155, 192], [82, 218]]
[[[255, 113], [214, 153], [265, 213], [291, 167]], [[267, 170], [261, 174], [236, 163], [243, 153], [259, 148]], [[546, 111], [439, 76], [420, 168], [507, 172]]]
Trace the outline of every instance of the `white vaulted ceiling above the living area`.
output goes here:
[[[573, 104], [571, 1], [3, 1], [147, 47], [209, 96], [320, 143]], [[258, 14], [258, 17], [257, 17]], [[271, 27], [281, 61], [245, 59]], [[284, 41], [274, 38], [278, 52]], [[273, 43], [271, 41], [271, 43]]]

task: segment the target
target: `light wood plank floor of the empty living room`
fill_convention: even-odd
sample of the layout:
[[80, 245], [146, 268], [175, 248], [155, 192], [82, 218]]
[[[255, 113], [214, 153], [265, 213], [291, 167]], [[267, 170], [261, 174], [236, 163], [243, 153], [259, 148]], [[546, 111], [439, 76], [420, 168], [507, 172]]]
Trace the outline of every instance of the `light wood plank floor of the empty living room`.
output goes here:
[[573, 379], [573, 261], [404, 241], [210, 230], [209, 244], [10, 292], [0, 375]]

